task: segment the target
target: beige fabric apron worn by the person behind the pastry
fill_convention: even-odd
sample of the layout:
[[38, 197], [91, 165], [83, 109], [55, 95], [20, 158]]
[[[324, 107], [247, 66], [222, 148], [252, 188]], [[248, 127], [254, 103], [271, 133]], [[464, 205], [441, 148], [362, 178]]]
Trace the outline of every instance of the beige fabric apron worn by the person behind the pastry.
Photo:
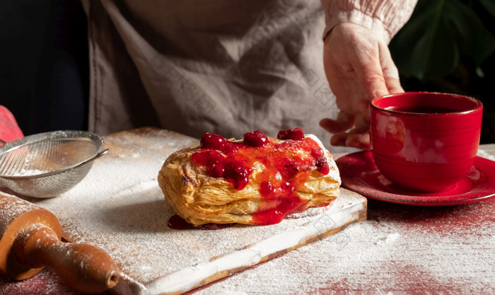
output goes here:
[[[88, 1], [89, 128], [242, 138], [335, 117], [320, 0]], [[332, 151], [339, 148], [332, 147]]]

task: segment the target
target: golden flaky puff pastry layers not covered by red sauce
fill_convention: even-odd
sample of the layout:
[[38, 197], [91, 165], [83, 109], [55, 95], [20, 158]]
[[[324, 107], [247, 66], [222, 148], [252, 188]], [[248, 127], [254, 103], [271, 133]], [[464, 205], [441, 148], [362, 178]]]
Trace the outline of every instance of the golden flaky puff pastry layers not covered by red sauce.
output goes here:
[[[318, 138], [311, 134], [305, 137], [318, 143], [326, 156], [330, 172], [323, 175], [316, 168], [310, 170], [305, 182], [297, 187], [294, 194], [301, 199], [298, 212], [308, 207], [325, 206], [339, 196], [340, 177], [332, 154]], [[272, 137], [269, 140], [281, 141]], [[248, 184], [242, 190], [235, 190], [225, 179], [209, 176], [205, 166], [197, 166], [191, 161], [192, 154], [199, 150], [198, 146], [176, 151], [167, 158], [158, 173], [158, 184], [175, 214], [194, 226], [208, 223], [255, 224], [253, 216], [257, 212], [279, 204], [279, 199], [265, 199], [260, 194], [257, 175], [266, 169], [263, 163], [255, 161]], [[298, 153], [301, 151], [293, 151], [294, 156]]]

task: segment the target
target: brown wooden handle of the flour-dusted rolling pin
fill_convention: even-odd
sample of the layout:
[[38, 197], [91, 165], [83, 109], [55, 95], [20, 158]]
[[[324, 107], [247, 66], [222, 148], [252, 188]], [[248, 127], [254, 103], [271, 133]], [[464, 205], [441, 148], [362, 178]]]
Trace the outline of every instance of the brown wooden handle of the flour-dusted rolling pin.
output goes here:
[[57, 233], [34, 224], [19, 233], [13, 243], [16, 260], [27, 267], [50, 267], [69, 287], [100, 293], [114, 287], [119, 270], [110, 255], [93, 245], [64, 243]]

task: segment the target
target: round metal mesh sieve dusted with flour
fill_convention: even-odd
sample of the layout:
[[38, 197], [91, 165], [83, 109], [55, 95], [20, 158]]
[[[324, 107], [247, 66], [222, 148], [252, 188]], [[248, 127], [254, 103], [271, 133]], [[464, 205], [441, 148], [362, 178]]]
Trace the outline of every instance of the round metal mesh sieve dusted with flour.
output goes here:
[[78, 184], [107, 153], [92, 132], [55, 131], [0, 146], [0, 183], [29, 197], [54, 197]]

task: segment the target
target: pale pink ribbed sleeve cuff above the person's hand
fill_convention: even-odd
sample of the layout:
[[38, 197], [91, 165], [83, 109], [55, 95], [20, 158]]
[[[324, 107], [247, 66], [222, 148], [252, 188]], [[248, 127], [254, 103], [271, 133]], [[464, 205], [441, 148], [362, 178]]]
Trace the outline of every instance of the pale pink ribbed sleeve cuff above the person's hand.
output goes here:
[[383, 36], [386, 42], [411, 17], [417, 0], [321, 0], [325, 11], [325, 37], [338, 23], [363, 25]]

